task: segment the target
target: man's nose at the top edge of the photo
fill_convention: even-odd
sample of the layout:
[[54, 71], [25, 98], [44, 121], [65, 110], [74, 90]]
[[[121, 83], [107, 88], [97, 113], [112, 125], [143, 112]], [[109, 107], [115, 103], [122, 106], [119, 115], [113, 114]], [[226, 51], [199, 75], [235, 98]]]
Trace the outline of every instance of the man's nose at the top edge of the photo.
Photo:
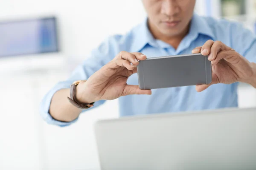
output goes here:
[[161, 13], [167, 16], [174, 16], [179, 12], [177, 0], [163, 0]]

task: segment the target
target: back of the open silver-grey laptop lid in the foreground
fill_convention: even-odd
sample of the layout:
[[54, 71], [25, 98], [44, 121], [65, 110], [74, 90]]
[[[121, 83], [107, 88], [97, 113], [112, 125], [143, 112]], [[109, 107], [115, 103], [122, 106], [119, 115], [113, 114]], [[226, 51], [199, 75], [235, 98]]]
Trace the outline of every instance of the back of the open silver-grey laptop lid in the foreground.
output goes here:
[[256, 170], [256, 108], [99, 120], [101, 170]]

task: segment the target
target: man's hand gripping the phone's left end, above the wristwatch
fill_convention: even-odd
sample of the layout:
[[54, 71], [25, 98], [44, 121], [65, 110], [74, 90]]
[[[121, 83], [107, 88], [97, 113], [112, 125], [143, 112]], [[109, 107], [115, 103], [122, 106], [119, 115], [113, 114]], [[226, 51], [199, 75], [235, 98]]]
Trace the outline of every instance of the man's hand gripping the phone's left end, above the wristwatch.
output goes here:
[[79, 83], [77, 99], [79, 102], [91, 103], [99, 100], [113, 100], [131, 94], [150, 95], [151, 90], [141, 90], [138, 85], [127, 85], [128, 77], [137, 73], [138, 60], [145, 59], [146, 56], [139, 52], [121, 51], [87, 81]]

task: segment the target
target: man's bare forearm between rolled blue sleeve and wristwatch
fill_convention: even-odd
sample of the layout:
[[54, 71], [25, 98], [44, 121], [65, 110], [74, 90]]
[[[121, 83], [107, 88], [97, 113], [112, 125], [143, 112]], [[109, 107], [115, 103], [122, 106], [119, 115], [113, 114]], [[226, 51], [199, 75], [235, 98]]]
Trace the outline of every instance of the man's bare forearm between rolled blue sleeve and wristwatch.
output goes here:
[[62, 122], [71, 122], [81, 113], [81, 109], [72, 105], [67, 96], [70, 96], [70, 89], [61, 89], [57, 91], [51, 101], [49, 113], [51, 116]]

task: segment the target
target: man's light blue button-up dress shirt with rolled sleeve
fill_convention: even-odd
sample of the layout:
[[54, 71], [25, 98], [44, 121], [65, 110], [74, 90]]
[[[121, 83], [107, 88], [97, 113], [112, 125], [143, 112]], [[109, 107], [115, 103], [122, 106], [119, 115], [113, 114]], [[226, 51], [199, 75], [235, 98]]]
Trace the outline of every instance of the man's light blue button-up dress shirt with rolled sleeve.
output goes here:
[[[250, 62], [256, 62], [256, 35], [243, 28], [240, 23], [227, 20], [215, 20], [212, 17], [201, 17], [194, 14], [189, 33], [175, 50], [171, 45], [161, 40], [155, 40], [147, 27], [147, 19], [134, 27], [125, 35], [108, 37], [90, 57], [79, 65], [71, 76], [63, 82], [58, 82], [41, 102], [41, 116], [49, 124], [67, 126], [76, 122], [60, 122], [49, 114], [52, 96], [62, 88], [70, 88], [72, 82], [88, 79], [94, 72], [107, 64], [120, 51], [141, 52], [147, 57], [191, 54], [192, 49], [204, 45], [207, 40], [219, 40], [235, 49]], [[128, 84], [138, 85], [137, 74], [128, 79]], [[225, 107], [237, 107], [237, 83], [230, 85], [212, 85], [207, 90], [198, 93], [195, 86], [163, 88], [152, 90], [152, 95], [129, 95], [119, 98], [120, 116], [131, 116], [153, 113], [170, 113], [180, 111], [196, 111]], [[105, 101], [95, 102], [95, 107]], [[90, 108], [90, 109], [93, 109]], [[88, 110], [90, 110], [88, 109]], [[84, 111], [88, 111], [84, 110]]]

